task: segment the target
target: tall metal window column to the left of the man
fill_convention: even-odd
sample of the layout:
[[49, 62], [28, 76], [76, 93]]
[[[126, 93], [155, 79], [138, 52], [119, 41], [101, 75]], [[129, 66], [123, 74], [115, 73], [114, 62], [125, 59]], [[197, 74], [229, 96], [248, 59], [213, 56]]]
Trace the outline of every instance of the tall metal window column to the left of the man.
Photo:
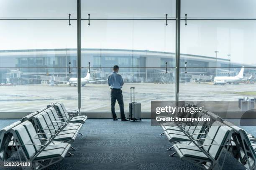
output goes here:
[[78, 110], [81, 109], [81, 0], [77, 0], [77, 92]]

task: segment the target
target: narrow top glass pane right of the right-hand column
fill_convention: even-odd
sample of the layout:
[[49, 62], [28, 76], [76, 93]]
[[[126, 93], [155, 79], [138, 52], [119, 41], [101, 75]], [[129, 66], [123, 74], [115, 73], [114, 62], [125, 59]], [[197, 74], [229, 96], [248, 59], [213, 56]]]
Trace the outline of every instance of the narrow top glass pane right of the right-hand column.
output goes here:
[[189, 18], [255, 18], [255, 7], [255, 0], [181, 0], [181, 16], [187, 14]]

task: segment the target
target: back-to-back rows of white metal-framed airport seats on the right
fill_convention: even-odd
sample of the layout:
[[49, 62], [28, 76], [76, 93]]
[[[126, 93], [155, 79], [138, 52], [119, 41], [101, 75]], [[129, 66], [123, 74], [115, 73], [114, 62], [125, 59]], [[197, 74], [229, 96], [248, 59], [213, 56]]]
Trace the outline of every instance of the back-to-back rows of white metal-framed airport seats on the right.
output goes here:
[[[195, 107], [188, 105], [188, 107]], [[249, 170], [256, 169], [256, 138], [245, 130], [224, 121], [218, 115], [203, 112], [179, 113], [182, 117], [210, 117], [210, 122], [160, 123], [174, 150], [170, 156], [178, 156], [204, 169], [222, 169], [227, 152]], [[220, 163], [220, 156], [224, 160]]]

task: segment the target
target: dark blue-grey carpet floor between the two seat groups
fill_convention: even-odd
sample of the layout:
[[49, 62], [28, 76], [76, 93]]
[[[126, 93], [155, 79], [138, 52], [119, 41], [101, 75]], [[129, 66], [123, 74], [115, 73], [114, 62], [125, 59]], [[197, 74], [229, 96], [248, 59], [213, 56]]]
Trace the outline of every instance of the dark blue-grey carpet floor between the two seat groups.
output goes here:
[[[15, 121], [15, 120], [13, 120]], [[7, 122], [4, 122], [4, 124]], [[9, 122], [8, 122], [9, 123]], [[9, 123], [10, 124], [10, 123]], [[7, 124], [8, 125], [8, 124]], [[4, 127], [1, 123], [1, 127]], [[89, 119], [72, 144], [74, 156], [50, 166], [49, 170], [198, 170], [195, 165], [169, 157], [171, 146], [160, 126], [149, 119], [121, 122], [111, 119]], [[230, 155], [224, 170], [245, 168]]]

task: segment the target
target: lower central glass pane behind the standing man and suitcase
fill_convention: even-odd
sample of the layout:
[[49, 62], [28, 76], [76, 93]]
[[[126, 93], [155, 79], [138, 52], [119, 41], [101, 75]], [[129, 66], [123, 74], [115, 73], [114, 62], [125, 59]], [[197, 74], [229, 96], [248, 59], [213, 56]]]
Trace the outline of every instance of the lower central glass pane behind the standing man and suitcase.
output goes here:
[[[119, 69], [124, 80], [123, 100], [125, 112], [131, 102], [130, 87], [135, 87], [135, 101], [141, 102], [143, 112], [151, 111], [151, 100], [175, 100], [175, 70], [159, 68]], [[87, 69], [82, 69], [82, 112], [110, 112], [110, 88], [107, 77], [111, 72], [91, 69], [90, 79]], [[119, 112], [118, 102], [116, 111]]]

